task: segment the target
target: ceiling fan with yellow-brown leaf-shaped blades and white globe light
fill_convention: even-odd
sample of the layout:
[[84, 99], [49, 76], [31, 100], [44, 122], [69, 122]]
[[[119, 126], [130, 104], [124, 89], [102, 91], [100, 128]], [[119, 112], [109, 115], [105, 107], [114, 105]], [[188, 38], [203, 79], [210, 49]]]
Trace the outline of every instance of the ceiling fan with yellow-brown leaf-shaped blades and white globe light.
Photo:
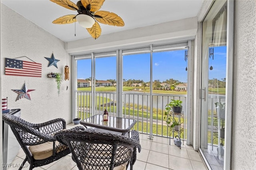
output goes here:
[[[66, 15], [57, 18], [53, 24], [70, 24], [78, 21], [80, 26], [86, 28], [92, 38], [98, 38], [101, 28], [98, 22], [110, 26], [124, 26], [124, 21], [113, 12], [99, 11], [105, 0], [80, 0], [76, 4], [70, 0], [50, 0], [56, 4], [77, 10], [77, 15]], [[98, 21], [98, 22], [97, 22]]]

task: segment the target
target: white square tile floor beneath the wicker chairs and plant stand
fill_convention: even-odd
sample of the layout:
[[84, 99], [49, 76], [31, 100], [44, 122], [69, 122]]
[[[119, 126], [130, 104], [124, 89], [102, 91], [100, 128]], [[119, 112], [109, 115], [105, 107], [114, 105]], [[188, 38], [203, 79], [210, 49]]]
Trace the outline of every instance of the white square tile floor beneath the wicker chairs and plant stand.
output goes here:
[[[76, 125], [71, 123], [67, 128], [74, 126]], [[142, 150], [137, 153], [134, 170], [207, 170], [200, 154], [185, 143], [180, 149], [172, 140], [169, 145], [168, 138], [154, 136], [153, 139], [148, 139], [147, 134], [140, 134], [140, 144]], [[12, 163], [21, 164], [24, 158], [25, 154], [20, 149]], [[22, 170], [28, 169], [29, 164], [28, 167], [22, 168]], [[18, 170], [18, 167], [9, 167], [7, 170]], [[78, 170], [78, 168], [69, 154], [56, 162], [33, 170]]]

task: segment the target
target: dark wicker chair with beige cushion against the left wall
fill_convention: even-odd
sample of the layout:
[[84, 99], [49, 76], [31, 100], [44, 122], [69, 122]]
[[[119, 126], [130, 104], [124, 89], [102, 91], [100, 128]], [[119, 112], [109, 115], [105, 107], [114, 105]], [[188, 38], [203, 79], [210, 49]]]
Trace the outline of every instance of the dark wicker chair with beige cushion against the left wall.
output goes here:
[[[2, 119], [10, 125], [12, 132], [26, 154], [22, 166], [28, 161], [29, 169], [50, 164], [67, 154], [70, 150], [67, 145], [55, 140], [54, 134], [66, 128], [64, 119], [58, 118], [45, 123], [33, 124], [14, 115], [2, 114]], [[84, 129], [76, 127], [76, 129]], [[19, 170], [23, 167], [20, 166]]]

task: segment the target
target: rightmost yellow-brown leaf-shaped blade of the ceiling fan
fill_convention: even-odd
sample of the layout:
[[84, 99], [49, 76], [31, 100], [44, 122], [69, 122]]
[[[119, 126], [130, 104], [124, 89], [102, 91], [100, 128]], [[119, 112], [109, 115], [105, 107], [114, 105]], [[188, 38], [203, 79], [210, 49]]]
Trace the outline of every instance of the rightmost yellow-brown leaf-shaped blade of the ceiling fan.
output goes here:
[[95, 19], [102, 24], [108, 24], [110, 26], [124, 26], [124, 21], [122, 18], [113, 12], [98, 11], [95, 12], [94, 16]]

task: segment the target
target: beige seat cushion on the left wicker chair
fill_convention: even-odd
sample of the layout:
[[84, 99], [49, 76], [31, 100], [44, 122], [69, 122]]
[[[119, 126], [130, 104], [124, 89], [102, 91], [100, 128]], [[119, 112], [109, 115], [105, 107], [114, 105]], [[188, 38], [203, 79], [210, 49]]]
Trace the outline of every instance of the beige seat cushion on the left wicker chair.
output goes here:
[[[55, 145], [58, 146], [56, 147], [56, 153], [68, 148], [68, 146], [62, 145], [58, 141], [55, 142]], [[46, 159], [53, 155], [53, 142], [45, 142], [42, 144], [29, 146], [28, 149], [32, 153], [35, 160]]]

